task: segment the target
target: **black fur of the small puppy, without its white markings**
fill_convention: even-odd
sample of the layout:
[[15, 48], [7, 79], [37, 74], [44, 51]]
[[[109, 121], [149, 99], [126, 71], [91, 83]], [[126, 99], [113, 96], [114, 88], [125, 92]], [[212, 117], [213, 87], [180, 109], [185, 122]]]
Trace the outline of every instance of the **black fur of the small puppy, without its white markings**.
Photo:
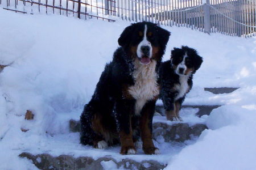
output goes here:
[[[185, 66], [187, 66], [187, 69], [191, 69], [191, 72], [187, 75], [179, 75], [176, 73], [176, 68], [177, 65], [182, 62], [185, 54], [188, 56], [185, 61]], [[167, 112], [175, 109], [175, 103], [179, 104], [181, 108], [185, 95], [193, 86], [193, 74], [196, 73], [202, 62], [203, 58], [199, 56], [195, 49], [182, 46], [181, 48], [174, 48], [174, 50], [171, 51], [171, 59], [161, 64], [159, 68], [160, 99], [162, 99], [164, 109]], [[176, 87], [184, 85], [180, 82], [181, 76], [187, 76], [187, 89], [183, 95], [177, 97], [180, 89]], [[177, 115], [177, 118], [179, 118], [179, 115]]]

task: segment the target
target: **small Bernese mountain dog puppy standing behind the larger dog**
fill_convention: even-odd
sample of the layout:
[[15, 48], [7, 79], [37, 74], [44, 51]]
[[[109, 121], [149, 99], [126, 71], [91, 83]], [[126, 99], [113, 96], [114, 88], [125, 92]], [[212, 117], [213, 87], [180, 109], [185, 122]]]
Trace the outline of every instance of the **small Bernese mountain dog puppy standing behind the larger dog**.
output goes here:
[[179, 116], [185, 95], [192, 88], [193, 74], [199, 69], [203, 58], [188, 46], [174, 48], [171, 59], [159, 68], [160, 99], [163, 101], [167, 120], [182, 121]]

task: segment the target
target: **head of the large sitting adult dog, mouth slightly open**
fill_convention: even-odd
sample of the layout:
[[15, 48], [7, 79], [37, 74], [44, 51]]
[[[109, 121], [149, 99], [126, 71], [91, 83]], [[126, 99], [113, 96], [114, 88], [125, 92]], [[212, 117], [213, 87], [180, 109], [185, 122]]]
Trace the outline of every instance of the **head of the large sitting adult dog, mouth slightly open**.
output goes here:
[[131, 24], [118, 39], [118, 44], [129, 56], [147, 65], [152, 59], [162, 59], [170, 32], [150, 22]]

